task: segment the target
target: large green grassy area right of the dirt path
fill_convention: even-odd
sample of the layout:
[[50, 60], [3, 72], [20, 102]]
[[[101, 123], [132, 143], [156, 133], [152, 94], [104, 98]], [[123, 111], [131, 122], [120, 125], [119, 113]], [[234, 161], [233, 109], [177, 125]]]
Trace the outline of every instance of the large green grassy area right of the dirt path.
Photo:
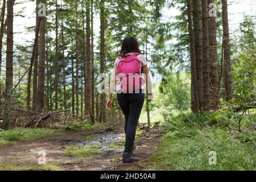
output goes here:
[[[156, 166], [148, 169], [256, 170], [255, 127], [248, 127], [251, 118], [243, 117], [243, 133], [239, 133], [236, 117], [217, 112], [169, 118], [164, 138], [151, 157]], [[210, 151], [217, 154], [216, 165], [209, 165]]]

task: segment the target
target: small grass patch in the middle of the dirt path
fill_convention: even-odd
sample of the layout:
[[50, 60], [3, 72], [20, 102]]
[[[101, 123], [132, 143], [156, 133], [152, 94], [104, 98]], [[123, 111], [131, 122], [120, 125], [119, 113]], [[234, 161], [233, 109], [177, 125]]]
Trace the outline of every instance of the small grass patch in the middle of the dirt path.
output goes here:
[[64, 151], [65, 155], [76, 156], [77, 158], [90, 158], [91, 156], [98, 155], [98, 145], [89, 144], [88, 146], [73, 145]]

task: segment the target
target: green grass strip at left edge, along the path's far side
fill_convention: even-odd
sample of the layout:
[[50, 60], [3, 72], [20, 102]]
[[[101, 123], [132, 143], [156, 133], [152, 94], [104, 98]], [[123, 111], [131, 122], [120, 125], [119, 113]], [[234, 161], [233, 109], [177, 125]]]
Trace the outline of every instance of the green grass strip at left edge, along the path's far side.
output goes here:
[[0, 131], [0, 145], [17, 141], [33, 140], [50, 135], [64, 134], [65, 131], [60, 129], [42, 129], [42, 128], [14, 128], [7, 131]]

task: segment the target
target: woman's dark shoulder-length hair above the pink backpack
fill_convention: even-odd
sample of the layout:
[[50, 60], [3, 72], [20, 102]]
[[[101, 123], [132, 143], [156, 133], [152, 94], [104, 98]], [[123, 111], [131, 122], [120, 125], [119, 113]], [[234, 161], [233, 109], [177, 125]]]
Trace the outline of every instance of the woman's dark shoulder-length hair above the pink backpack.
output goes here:
[[133, 36], [127, 36], [125, 39], [123, 39], [119, 57], [125, 57], [126, 53], [130, 52], [141, 53], [141, 50], [139, 49], [139, 44]]

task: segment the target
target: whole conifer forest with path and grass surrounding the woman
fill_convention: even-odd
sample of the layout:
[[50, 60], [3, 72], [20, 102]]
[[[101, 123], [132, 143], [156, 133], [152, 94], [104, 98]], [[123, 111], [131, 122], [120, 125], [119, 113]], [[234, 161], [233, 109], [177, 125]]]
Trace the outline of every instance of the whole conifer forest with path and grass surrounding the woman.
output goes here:
[[[0, 7], [0, 170], [256, 170], [255, 1]], [[116, 93], [106, 109], [126, 36], [138, 40], [154, 95], [135, 136], [143, 160], [131, 165], [120, 160]]]

